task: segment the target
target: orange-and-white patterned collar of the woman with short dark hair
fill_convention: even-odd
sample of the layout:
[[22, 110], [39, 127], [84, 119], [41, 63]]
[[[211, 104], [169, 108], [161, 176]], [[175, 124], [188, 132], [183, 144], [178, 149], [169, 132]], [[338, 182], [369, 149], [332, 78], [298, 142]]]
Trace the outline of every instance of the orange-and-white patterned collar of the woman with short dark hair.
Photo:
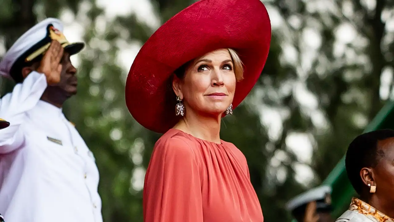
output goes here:
[[378, 211], [368, 203], [365, 203], [361, 199], [352, 198], [349, 210], [357, 211], [358, 213], [363, 214], [374, 222], [394, 222], [393, 218], [390, 218], [389, 216], [383, 214], [382, 212]]

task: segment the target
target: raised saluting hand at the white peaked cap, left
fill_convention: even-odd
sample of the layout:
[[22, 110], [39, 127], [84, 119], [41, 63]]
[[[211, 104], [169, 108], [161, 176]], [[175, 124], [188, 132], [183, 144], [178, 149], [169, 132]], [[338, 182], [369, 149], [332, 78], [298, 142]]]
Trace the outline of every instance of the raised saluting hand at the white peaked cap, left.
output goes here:
[[63, 56], [63, 47], [57, 40], [52, 40], [48, 50], [46, 51], [37, 71], [44, 73], [48, 85], [55, 85], [60, 81], [60, 73], [62, 66], [59, 64]]

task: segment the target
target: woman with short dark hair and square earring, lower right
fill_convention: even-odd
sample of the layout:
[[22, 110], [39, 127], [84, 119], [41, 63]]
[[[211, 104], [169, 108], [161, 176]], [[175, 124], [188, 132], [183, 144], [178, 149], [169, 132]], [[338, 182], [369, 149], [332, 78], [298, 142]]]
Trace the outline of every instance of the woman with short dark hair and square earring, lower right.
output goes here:
[[394, 130], [357, 136], [346, 153], [346, 171], [360, 198], [336, 222], [394, 222]]

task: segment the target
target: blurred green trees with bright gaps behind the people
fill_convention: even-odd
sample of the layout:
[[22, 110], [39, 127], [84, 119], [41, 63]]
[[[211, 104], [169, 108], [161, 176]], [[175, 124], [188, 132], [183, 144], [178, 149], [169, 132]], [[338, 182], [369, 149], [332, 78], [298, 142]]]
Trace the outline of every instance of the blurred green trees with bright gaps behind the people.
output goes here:
[[[46, 17], [65, 24], [78, 95], [64, 107], [93, 151], [105, 222], [142, 222], [142, 190], [160, 134], [125, 105], [125, 79], [142, 44], [193, 0], [0, 0], [0, 56]], [[273, 28], [255, 88], [222, 122], [246, 156], [265, 222], [291, 221], [285, 203], [329, 175], [394, 97], [394, 1], [264, 0]], [[209, 10], [209, 9], [207, 9]], [[253, 15], [250, 15], [253, 19]], [[1, 80], [1, 95], [13, 88]]]

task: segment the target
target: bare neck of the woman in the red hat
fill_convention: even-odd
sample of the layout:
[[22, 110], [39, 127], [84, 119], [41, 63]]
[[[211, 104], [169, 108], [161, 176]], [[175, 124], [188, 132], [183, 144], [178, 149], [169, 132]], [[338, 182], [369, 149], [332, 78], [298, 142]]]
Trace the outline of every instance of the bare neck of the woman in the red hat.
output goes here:
[[203, 116], [197, 115], [191, 111], [185, 112], [184, 118], [182, 118], [175, 129], [182, 130], [194, 137], [199, 139], [211, 141], [214, 143], [221, 143], [220, 141], [220, 121], [221, 115], [214, 116]]

